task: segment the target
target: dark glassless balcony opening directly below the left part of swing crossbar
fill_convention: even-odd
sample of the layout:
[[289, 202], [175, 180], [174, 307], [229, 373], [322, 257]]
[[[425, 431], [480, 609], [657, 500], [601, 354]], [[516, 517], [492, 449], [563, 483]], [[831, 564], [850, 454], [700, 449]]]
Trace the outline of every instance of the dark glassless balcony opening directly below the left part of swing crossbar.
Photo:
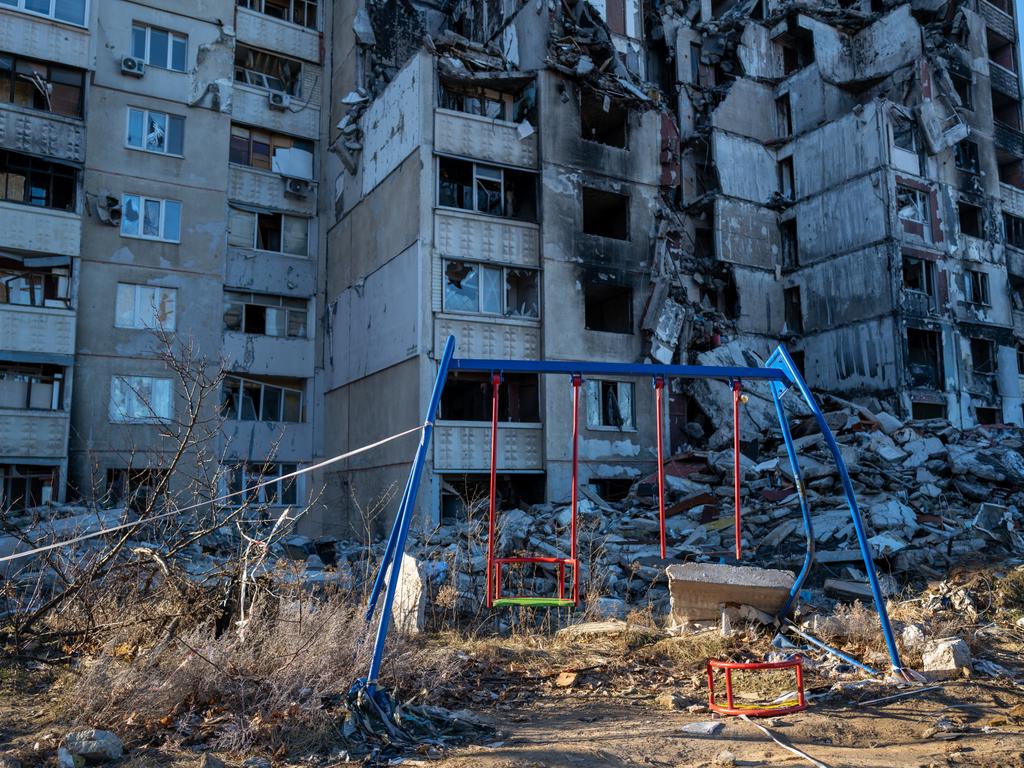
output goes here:
[[[489, 374], [450, 373], [441, 394], [440, 418], [445, 421], [490, 421], [493, 397]], [[498, 421], [540, 424], [537, 374], [502, 376], [498, 390]]]

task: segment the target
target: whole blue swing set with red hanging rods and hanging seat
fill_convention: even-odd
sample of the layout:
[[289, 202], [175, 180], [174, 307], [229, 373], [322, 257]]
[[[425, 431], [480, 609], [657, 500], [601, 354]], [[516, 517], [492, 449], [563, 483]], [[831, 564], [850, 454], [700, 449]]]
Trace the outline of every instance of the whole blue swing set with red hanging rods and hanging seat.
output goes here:
[[[406, 541], [409, 536], [409, 528], [413, 519], [413, 509], [416, 503], [416, 495], [419, 488], [420, 479], [426, 465], [427, 451], [430, 445], [430, 437], [433, 432], [433, 419], [440, 404], [441, 393], [444, 383], [447, 380], [450, 371], [466, 371], [474, 373], [485, 373], [490, 375], [492, 383], [492, 407], [490, 407], [490, 494], [488, 504], [487, 520], [487, 560], [486, 560], [486, 605], [488, 607], [507, 606], [550, 606], [568, 607], [578, 605], [580, 602], [580, 568], [577, 551], [577, 529], [578, 529], [578, 507], [579, 507], [579, 439], [580, 439], [580, 389], [584, 383], [584, 377], [604, 376], [614, 378], [646, 378], [652, 382], [654, 389], [654, 403], [656, 412], [656, 435], [657, 435], [657, 502], [658, 502], [658, 523], [659, 542], [663, 559], [667, 554], [666, 527], [665, 527], [665, 461], [663, 457], [663, 433], [662, 423], [664, 421], [664, 393], [666, 383], [672, 378], [685, 379], [715, 379], [726, 382], [731, 387], [732, 392], [732, 420], [733, 420], [733, 489], [735, 494], [733, 516], [735, 526], [735, 556], [740, 559], [741, 551], [741, 509], [739, 496], [739, 409], [743, 401], [742, 382], [744, 381], [765, 381], [771, 392], [772, 401], [775, 407], [775, 414], [778, 418], [779, 430], [782, 441], [785, 444], [785, 452], [788, 458], [790, 467], [793, 472], [794, 485], [800, 503], [801, 516], [804, 523], [806, 536], [806, 552], [803, 566], [798, 573], [793, 588], [790, 591], [788, 599], [782, 610], [776, 616], [784, 622], [793, 607], [804, 582], [807, 580], [811, 566], [814, 562], [814, 530], [811, 524], [810, 506], [807, 493], [804, 487], [803, 476], [800, 471], [800, 461], [797, 450], [790, 432], [790, 424], [786, 420], [782, 407], [782, 397], [786, 392], [795, 392], [810, 409], [821, 435], [824, 438], [833, 459], [836, 462], [836, 469], [843, 485], [846, 496], [847, 506], [850, 509], [850, 517], [857, 537], [860, 554], [864, 562], [864, 569], [867, 572], [867, 581], [871, 590], [871, 597], [876, 610], [879, 614], [882, 634], [885, 637], [886, 646], [889, 651], [889, 658], [893, 670], [897, 674], [906, 673], [900, 663], [899, 651], [893, 636], [892, 626], [886, 611], [885, 599], [882, 595], [882, 588], [879, 584], [878, 573], [874, 569], [874, 562], [871, 559], [870, 545], [864, 529], [864, 523], [857, 506], [857, 500], [853, 493], [853, 485], [850, 475], [840, 453], [839, 444], [833, 436], [825, 422], [824, 415], [818, 407], [817, 401], [811, 394], [810, 388], [797, 370], [793, 358], [785, 350], [785, 347], [778, 346], [769, 356], [763, 368], [732, 367], [732, 366], [670, 366], [652, 364], [625, 364], [625, 362], [588, 362], [588, 361], [563, 361], [563, 360], [513, 360], [513, 359], [473, 359], [456, 358], [455, 337], [450, 336], [444, 345], [444, 352], [441, 355], [440, 365], [437, 371], [437, 378], [434, 380], [433, 392], [427, 409], [426, 420], [420, 434], [420, 444], [416, 452], [410, 470], [409, 479], [402, 494], [401, 503], [395, 516], [391, 534], [388, 537], [387, 547], [381, 561], [377, 579], [370, 595], [367, 607], [366, 620], [370, 622], [377, 608], [377, 602], [381, 593], [384, 593], [384, 605], [382, 607], [380, 621], [377, 628], [377, 637], [374, 646], [374, 654], [370, 664], [370, 671], [366, 678], [357, 681], [357, 685], [365, 686], [371, 693], [375, 690], [377, 679], [380, 674], [380, 667], [384, 654], [384, 643], [387, 638], [390, 626], [391, 607], [397, 589], [397, 573], [401, 567], [401, 558], [406, 550]], [[496, 528], [498, 523], [498, 398], [503, 374], [545, 374], [561, 375], [568, 377], [572, 391], [572, 487], [570, 493], [569, 519], [569, 555], [568, 557], [496, 557], [495, 542]], [[540, 567], [552, 567], [558, 573], [557, 590], [554, 596], [536, 595], [507, 595], [503, 592], [503, 573], [510, 565], [536, 565]], [[393, 570], [394, 578], [388, 578], [388, 572]], [[861, 669], [871, 674], [877, 674], [864, 665], [849, 658], [837, 651], [835, 648], [825, 646], [823, 643], [801, 634], [805, 639], [814, 642], [819, 647], [828, 652], [840, 655], [855, 664]]]

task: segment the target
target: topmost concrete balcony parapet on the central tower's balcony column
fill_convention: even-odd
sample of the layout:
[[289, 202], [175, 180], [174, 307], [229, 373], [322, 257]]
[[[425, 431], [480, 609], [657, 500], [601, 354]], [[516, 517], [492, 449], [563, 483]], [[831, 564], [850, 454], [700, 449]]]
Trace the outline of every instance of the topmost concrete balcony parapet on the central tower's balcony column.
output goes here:
[[537, 167], [537, 131], [520, 138], [515, 123], [451, 110], [434, 111], [434, 148], [474, 160]]

